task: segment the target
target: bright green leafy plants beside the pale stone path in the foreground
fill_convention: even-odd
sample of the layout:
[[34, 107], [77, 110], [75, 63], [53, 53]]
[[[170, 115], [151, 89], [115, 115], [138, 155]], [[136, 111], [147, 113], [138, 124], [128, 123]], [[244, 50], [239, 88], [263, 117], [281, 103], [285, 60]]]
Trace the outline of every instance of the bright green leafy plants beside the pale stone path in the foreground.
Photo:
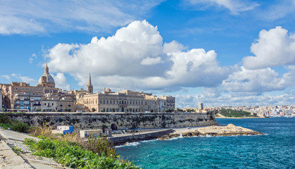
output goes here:
[[137, 168], [133, 163], [121, 160], [118, 156], [96, 154], [83, 149], [80, 144], [45, 137], [39, 142], [26, 139], [25, 144], [34, 155], [54, 158], [70, 168]]

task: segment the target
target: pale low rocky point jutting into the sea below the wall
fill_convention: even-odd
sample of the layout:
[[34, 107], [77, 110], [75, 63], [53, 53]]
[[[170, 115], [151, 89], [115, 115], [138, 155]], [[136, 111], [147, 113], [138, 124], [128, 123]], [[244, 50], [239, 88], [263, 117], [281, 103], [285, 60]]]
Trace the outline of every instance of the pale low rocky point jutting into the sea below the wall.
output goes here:
[[197, 136], [232, 136], [232, 135], [258, 135], [264, 134], [262, 132], [256, 132], [244, 127], [235, 126], [229, 124], [227, 126], [217, 126], [212, 125], [208, 127], [187, 127], [187, 128], [178, 128], [170, 134], [165, 134], [158, 139], [172, 139], [175, 137], [197, 137]]

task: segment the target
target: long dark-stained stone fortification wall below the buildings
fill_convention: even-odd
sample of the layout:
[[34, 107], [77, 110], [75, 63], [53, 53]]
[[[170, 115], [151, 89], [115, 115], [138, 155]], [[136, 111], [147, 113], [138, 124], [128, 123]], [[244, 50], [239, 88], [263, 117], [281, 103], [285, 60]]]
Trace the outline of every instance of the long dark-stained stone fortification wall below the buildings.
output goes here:
[[73, 125], [75, 130], [170, 128], [216, 125], [214, 113], [6, 113], [30, 125]]

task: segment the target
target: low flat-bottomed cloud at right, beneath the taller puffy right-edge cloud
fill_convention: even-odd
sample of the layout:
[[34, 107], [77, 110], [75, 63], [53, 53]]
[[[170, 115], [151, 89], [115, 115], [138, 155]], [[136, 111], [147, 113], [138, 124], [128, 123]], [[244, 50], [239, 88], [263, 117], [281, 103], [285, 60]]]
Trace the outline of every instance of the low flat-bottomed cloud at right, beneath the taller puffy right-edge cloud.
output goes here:
[[271, 68], [241, 70], [232, 73], [222, 82], [222, 88], [230, 92], [270, 92], [295, 85], [295, 72], [289, 71], [282, 77]]

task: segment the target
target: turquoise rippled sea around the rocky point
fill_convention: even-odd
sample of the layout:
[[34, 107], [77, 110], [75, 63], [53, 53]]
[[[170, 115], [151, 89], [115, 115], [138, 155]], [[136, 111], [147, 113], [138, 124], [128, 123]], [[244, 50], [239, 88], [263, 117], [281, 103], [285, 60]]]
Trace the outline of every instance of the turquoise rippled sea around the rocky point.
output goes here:
[[142, 168], [295, 168], [295, 118], [217, 121], [265, 135], [151, 140], [116, 150]]

